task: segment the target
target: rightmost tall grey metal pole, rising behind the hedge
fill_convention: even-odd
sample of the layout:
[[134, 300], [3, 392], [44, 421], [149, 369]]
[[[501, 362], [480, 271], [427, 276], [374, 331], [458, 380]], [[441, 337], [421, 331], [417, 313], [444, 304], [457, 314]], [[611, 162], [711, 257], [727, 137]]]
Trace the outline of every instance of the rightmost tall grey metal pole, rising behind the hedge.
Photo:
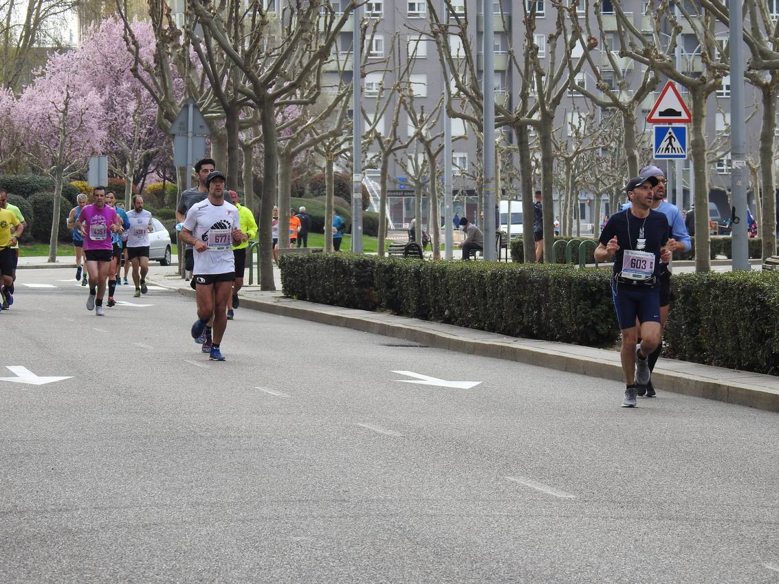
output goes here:
[[742, 0], [730, 0], [730, 61], [731, 61], [731, 195], [733, 222], [731, 247], [733, 270], [749, 270], [748, 211], [746, 183], [746, 111], [744, 110], [744, 49]]

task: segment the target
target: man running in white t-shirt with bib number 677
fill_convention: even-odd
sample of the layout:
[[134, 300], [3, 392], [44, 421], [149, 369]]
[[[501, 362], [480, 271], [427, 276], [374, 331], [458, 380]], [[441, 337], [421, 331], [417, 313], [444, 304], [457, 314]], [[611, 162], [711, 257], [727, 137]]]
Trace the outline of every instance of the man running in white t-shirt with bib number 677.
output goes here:
[[198, 319], [192, 325], [192, 338], [206, 330], [213, 317], [213, 342], [210, 358], [224, 361], [219, 346], [227, 328], [227, 301], [233, 287], [235, 259], [232, 245], [246, 241], [241, 232], [238, 209], [224, 200], [226, 179], [220, 171], [206, 178], [208, 199], [192, 205], [184, 220], [182, 240], [195, 248], [195, 269]]

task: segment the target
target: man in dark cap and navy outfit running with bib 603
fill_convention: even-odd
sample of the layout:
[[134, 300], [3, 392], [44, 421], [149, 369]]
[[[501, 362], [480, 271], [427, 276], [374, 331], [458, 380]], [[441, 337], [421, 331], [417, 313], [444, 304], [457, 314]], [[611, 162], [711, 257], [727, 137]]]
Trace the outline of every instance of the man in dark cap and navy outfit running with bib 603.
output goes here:
[[[668, 262], [668, 220], [650, 209], [654, 177], [632, 178], [626, 185], [633, 206], [612, 215], [603, 228], [595, 259], [614, 258], [612, 299], [622, 331], [620, 358], [625, 375], [623, 407], [636, 406], [636, 383], [647, 385], [647, 357], [661, 340], [659, 276], [661, 260]], [[640, 322], [641, 342], [638, 343]]]

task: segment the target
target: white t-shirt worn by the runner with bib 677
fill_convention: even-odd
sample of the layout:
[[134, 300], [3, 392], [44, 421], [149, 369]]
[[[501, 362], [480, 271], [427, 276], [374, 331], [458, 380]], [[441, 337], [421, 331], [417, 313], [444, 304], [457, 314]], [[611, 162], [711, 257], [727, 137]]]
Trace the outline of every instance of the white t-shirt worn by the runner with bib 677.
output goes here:
[[241, 227], [238, 209], [227, 201], [213, 205], [210, 200], [197, 202], [190, 207], [184, 220], [184, 228], [208, 244], [205, 252], [195, 250], [195, 276], [226, 274], [235, 271], [233, 255], [233, 230]]

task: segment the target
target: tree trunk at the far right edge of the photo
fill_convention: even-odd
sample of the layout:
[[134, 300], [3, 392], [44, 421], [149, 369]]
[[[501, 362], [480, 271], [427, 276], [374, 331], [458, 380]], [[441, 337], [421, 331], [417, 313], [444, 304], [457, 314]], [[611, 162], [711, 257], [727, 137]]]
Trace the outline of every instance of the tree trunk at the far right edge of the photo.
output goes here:
[[[763, 259], [777, 252], [777, 187], [774, 169], [774, 133], [777, 119], [777, 87], [763, 87], [763, 128], [760, 130], [760, 171], [763, 173], [763, 221], [760, 222]], [[757, 190], [757, 189], [756, 189]], [[757, 194], [755, 201], [757, 202]]]

